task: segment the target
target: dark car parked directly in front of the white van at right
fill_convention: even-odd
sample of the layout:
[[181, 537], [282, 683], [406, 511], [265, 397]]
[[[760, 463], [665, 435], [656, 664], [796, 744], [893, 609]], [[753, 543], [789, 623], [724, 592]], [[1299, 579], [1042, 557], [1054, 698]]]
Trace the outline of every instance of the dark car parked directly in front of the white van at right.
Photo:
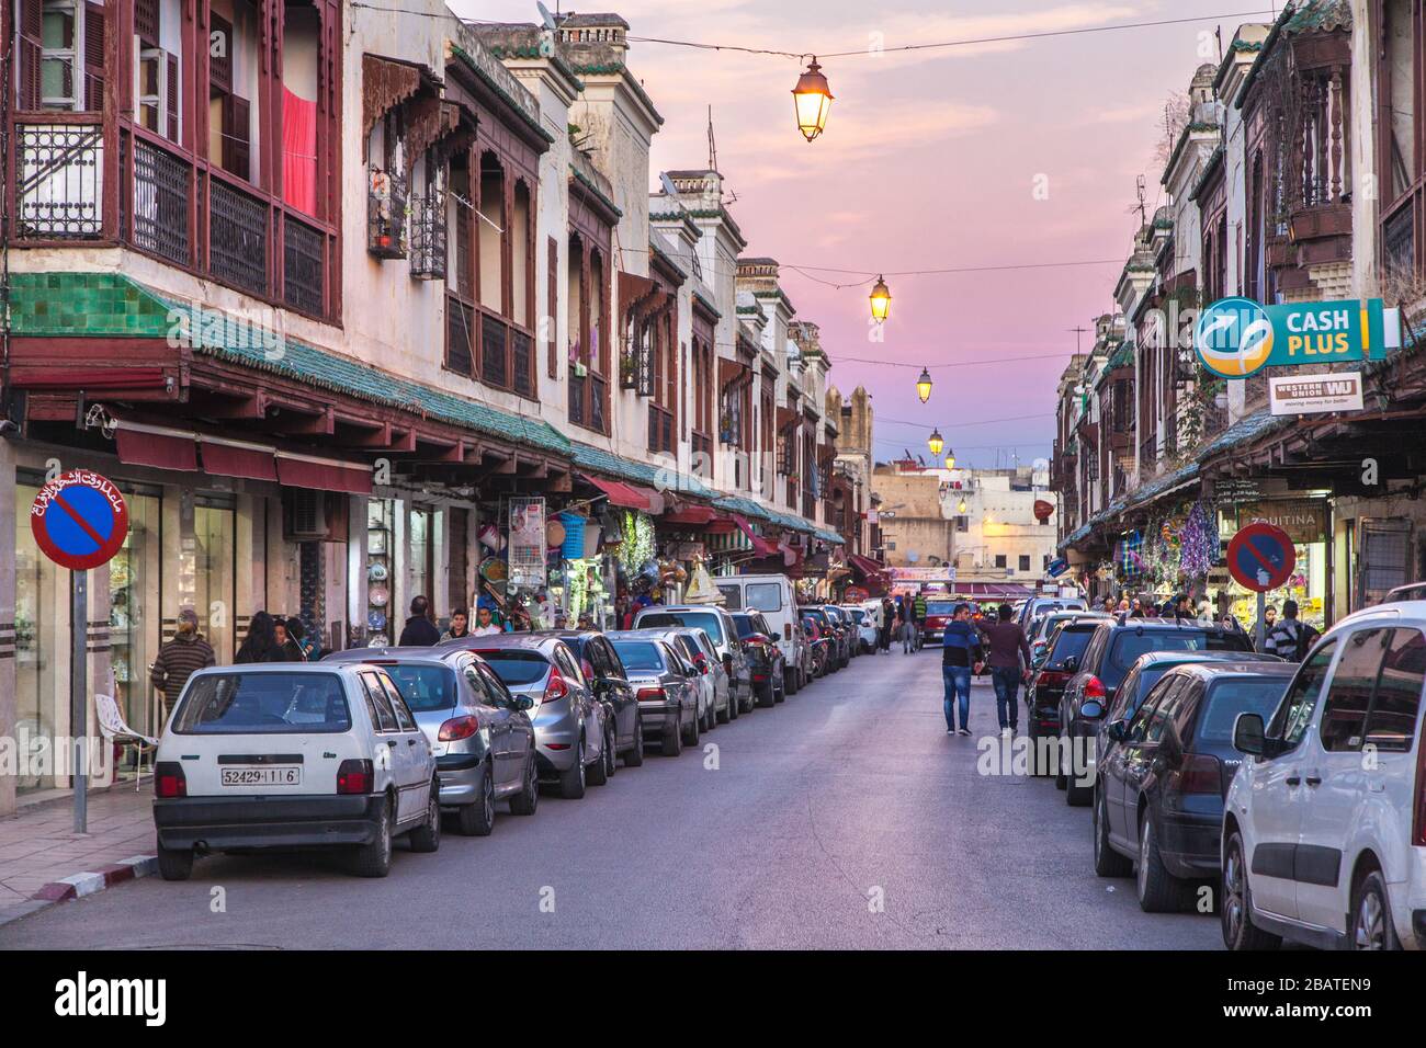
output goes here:
[[1224, 797], [1238, 771], [1233, 721], [1269, 717], [1298, 667], [1283, 662], [1175, 666], [1144, 704], [1109, 731], [1114, 746], [1094, 787], [1094, 867], [1138, 867], [1139, 905], [1182, 908], [1194, 880], [1218, 875]]

